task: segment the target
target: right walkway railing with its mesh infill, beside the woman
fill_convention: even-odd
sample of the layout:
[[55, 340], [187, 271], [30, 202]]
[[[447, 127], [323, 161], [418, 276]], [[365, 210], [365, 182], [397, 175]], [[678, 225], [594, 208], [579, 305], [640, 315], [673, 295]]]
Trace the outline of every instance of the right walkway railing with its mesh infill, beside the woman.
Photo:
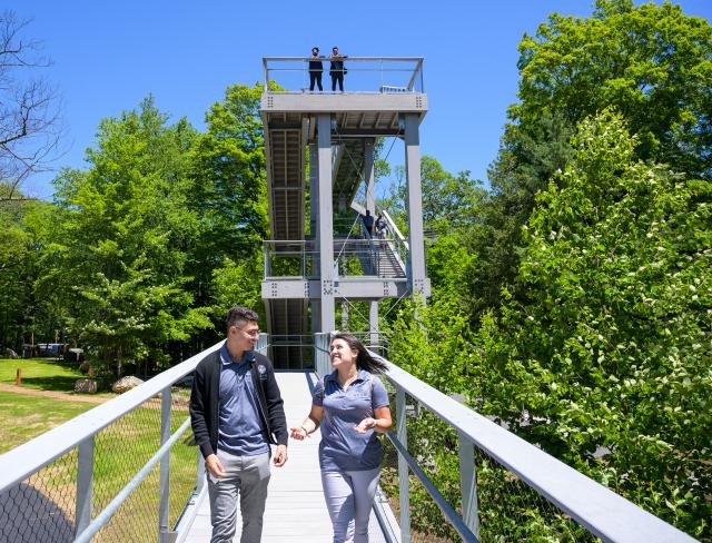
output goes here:
[[[329, 334], [315, 336], [315, 367], [330, 372]], [[694, 541], [635, 504], [557, 461], [513, 433], [423, 383], [392, 363], [396, 432], [387, 434], [398, 457], [400, 541], [411, 541], [411, 492], [422, 485], [463, 541], [603, 541], [669, 543]], [[428, 416], [429, 415], [429, 416]], [[434, 422], [437, 421], [437, 422]], [[452, 453], [439, 464], [411, 451], [434, 441], [423, 422], [451, 433]], [[414, 432], [415, 431], [415, 432]], [[414, 435], [411, 436], [409, 432]], [[436, 436], [437, 438], [437, 436]], [[417, 443], [417, 442], [421, 443]], [[443, 448], [446, 448], [445, 446]], [[456, 452], [455, 452], [456, 451]], [[459, 470], [459, 496], [451, 503], [428, 472], [451, 454]], [[411, 476], [412, 475], [412, 476]], [[421, 492], [421, 494], [423, 494]], [[417, 511], [423, 515], [422, 511]], [[543, 536], [546, 533], [548, 537]]]

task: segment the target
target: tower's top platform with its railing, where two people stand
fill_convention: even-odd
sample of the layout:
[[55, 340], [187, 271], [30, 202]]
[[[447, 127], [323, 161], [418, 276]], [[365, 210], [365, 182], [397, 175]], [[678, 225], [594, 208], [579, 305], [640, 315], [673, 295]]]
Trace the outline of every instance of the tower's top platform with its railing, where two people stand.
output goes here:
[[[309, 90], [309, 62], [323, 63], [324, 91]], [[330, 57], [263, 58], [263, 113], [405, 113], [427, 111], [423, 58], [342, 57], [344, 92], [332, 88]], [[313, 68], [314, 69], [314, 68]]]

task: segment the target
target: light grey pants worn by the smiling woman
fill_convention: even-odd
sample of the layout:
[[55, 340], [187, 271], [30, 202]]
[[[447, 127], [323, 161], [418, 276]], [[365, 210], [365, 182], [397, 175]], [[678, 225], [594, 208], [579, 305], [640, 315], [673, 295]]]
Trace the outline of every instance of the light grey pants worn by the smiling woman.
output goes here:
[[334, 526], [334, 543], [367, 543], [380, 467], [364, 472], [322, 472], [326, 507]]

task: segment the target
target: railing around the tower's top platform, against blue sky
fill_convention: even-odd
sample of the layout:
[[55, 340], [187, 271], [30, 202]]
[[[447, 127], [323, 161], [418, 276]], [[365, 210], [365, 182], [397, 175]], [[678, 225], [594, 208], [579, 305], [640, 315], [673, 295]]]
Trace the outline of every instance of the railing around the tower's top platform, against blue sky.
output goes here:
[[[309, 89], [309, 61], [312, 57], [263, 58], [265, 89], [271, 83], [281, 90], [269, 92], [305, 92]], [[329, 57], [322, 57], [323, 86], [330, 92]], [[352, 93], [425, 92], [423, 58], [421, 57], [346, 57], [344, 88]]]

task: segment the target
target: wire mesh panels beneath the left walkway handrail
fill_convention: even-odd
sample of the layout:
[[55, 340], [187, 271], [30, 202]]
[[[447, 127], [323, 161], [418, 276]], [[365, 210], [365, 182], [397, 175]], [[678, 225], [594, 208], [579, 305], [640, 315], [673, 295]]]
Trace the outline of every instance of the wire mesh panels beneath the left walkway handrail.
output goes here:
[[[189, 417], [190, 389], [170, 392], [170, 433]], [[0, 493], [0, 542], [59, 543], [79, 534], [82, 504], [97, 519], [161, 445], [161, 397], [154, 396], [93, 435], [92, 484], [78, 481], [79, 447]], [[188, 430], [170, 448], [168, 527], [196, 487], [197, 447]], [[91, 541], [151, 542], [159, 531], [160, 463], [157, 463]], [[86, 526], [85, 526], [86, 527]]]

